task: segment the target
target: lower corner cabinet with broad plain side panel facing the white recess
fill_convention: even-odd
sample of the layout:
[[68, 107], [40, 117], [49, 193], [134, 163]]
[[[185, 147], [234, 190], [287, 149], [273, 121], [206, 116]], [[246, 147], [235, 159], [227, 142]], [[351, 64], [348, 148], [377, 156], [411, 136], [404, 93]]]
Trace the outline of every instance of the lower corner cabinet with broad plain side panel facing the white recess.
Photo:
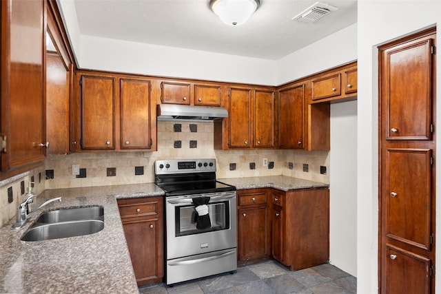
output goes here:
[[272, 190], [272, 256], [291, 271], [329, 261], [329, 189]]

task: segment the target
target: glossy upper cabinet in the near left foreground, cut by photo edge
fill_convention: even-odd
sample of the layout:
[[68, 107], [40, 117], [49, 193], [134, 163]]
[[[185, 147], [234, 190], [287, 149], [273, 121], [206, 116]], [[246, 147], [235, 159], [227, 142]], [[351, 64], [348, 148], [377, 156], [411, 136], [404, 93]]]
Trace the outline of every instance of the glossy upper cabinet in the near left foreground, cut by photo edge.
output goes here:
[[46, 1], [0, 5], [1, 178], [6, 178], [45, 158]]

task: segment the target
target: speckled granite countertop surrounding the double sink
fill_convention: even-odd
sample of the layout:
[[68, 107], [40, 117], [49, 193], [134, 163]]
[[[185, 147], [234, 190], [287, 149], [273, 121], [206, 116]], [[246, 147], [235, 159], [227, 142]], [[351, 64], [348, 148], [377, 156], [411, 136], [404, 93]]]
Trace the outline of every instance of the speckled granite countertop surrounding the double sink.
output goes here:
[[[30, 217], [23, 228], [11, 220], [0, 229], [0, 293], [139, 293], [117, 198], [163, 196], [154, 184], [46, 190], [35, 200], [62, 197]], [[104, 229], [73, 238], [21, 241], [43, 211], [101, 205]]]

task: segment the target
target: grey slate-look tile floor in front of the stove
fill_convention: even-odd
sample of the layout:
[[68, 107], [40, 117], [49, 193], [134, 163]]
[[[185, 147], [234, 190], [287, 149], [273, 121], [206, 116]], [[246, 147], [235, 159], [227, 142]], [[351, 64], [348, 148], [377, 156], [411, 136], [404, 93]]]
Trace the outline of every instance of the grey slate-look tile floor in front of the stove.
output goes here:
[[223, 273], [167, 287], [154, 284], [139, 288], [141, 294], [270, 294], [356, 293], [356, 277], [331, 264], [289, 271], [275, 260], [240, 266], [237, 273]]

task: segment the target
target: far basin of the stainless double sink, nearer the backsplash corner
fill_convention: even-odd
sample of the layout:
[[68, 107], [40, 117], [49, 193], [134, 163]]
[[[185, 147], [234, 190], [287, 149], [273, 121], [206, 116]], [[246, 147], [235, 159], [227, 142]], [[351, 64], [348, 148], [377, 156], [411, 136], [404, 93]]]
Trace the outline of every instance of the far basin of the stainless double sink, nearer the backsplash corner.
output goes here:
[[72, 220], [103, 220], [103, 217], [103, 207], [78, 207], [45, 212], [37, 219], [37, 222], [52, 224], [54, 222], [70, 222]]

